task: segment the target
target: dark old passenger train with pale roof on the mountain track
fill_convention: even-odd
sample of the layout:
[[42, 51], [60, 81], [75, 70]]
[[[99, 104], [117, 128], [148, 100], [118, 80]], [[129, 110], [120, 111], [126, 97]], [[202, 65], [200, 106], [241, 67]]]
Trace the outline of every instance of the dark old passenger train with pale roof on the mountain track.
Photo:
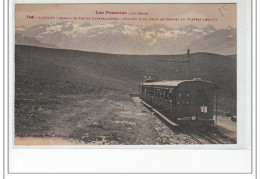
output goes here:
[[217, 84], [200, 78], [147, 80], [140, 84], [139, 96], [178, 125], [208, 127], [214, 125], [213, 114], [217, 111], [218, 88]]

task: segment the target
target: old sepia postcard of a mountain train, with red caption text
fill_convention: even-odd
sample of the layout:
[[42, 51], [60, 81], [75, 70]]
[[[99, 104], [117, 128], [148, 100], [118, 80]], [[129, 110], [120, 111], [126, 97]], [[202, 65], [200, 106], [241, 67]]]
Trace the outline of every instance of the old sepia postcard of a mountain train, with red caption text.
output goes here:
[[14, 8], [14, 145], [237, 144], [237, 4]]

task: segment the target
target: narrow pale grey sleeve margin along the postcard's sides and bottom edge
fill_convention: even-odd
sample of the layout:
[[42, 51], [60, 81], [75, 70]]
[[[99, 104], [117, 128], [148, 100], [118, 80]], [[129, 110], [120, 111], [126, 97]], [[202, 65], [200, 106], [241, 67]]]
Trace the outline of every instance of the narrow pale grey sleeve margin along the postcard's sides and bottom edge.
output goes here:
[[[28, 0], [27, 0], [28, 1]], [[212, 1], [212, 0], [211, 0]], [[241, 0], [240, 0], [241, 1]], [[28, 1], [30, 2], [30, 1]], [[39, 1], [40, 2], [40, 1]], [[45, 2], [45, 1], [44, 1]], [[60, 1], [58, 1], [60, 2]], [[82, 1], [79, 1], [82, 2]], [[212, 2], [216, 2], [216, 1], [212, 1]], [[73, 2], [74, 3], [74, 2]], [[238, 11], [244, 11], [245, 10], [245, 4], [238, 4], [237, 8], [239, 9]], [[250, 7], [250, 6], [249, 6]], [[14, 14], [14, 7], [10, 7], [10, 14]], [[12, 11], [12, 12], [11, 12]], [[240, 21], [245, 21], [245, 16], [243, 13], [238, 13], [238, 17], [237, 19], [241, 19]], [[249, 21], [250, 23], [250, 21]], [[245, 24], [245, 22], [243, 23], [238, 23], [238, 27], [243, 27]], [[13, 101], [14, 101], [14, 95], [15, 95], [15, 87], [14, 87], [14, 17], [10, 16], [10, 32], [12, 32], [13, 34], [10, 34], [10, 51], [9, 51], [9, 77], [10, 77], [10, 95], [9, 95], [9, 100], [10, 100], [10, 104], [9, 104], [9, 109], [10, 109], [10, 120], [9, 120], [9, 126], [10, 127], [10, 131], [9, 131], [9, 143], [13, 144], [14, 143], [14, 121], [12, 119], [14, 119], [14, 105], [13, 105]], [[250, 24], [249, 24], [250, 26]], [[248, 29], [250, 32], [250, 29]], [[246, 86], [251, 86], [251, 81], [250, 81], [250, 77], [251, 77], [251, 63], [247, 63], [246, 60], [244, 59], [250, 59], [250, 58], [246, 58], [246, 53], [245, 53], [245, 49], [249, 48], [250, 50], [250, 33], [247, 34], [246, 37], [246, 29], [245, 28], [238, 28], [237, 31], [237, 39], [238, 39], [238, 59], [237, 59], [237, 67], [238, 67], [238, 76], [237, 79], [238, 80], [238, 93], [237, 93], [237, 101], [238, 101], [238, 122], [237, 122], [237, 144], [204, 144], [204, 145], [105, 145], [105, 146], [84, 146], [84, 145], [75, 145], [75, 146], [15, 146], [14, 144], [11, 146], [12, 148], [15, 149], [24, 149], [24, 148], [31, 148], [31, 149], [38, 149], [38, 148], [89, 148], [89, 149], [249, 149], [251, 146], [250, 143], [250, 131], [251, 131], [251, 123], [248, 120], [245, 119], [251, 119], [251, 116], [246, 115], [246, 114], [250, 114], [250, 110], [251, 110], [251, 88], [244, 88], [245, 85]], [[249, 39], [249, 41], [247, 41], [247, 39]], [[240, 43], [239, 43], [240, 42]], [[242, 43], [245, 42], [245, 43]], [[249, 73], [246, 73], [246, 71], [248, 71]], [[245, 79], [248, 79], [248, 81], [246, 81]], [[250, 105], [245, 105], [245, 104], [250, 104]], [[240, 110], [239, 110], [240, 109]], [[243, 119], [243, 120], [241, 120]], [[246, 133], [246, 131], [249, 131], [249, 133]]]

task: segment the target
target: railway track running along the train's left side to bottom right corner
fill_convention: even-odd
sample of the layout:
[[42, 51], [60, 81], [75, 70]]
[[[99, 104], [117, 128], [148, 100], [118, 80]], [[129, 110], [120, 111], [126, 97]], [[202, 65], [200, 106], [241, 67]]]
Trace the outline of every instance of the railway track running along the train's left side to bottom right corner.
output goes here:
[[158, 118], [166, 122], [171, 127], [178, 127], [179, 130], [183, 133], [186, 133], [190, 137], [192, 137], [195, 141], [197, 141], [199, 144], [230, 144], [230, 143], [236, 143], [236, 139], [230, 138], [221, 132], [214, 130], [212, 131], [198, 131], [194, 129], [183, 129], [178, 124], [172, 122], [168, 117], [154, 109], [152, 106], [147, 104], [144, 101], [141, 101], [141, 103], [148, 108], [148, 110], [153, 111]]

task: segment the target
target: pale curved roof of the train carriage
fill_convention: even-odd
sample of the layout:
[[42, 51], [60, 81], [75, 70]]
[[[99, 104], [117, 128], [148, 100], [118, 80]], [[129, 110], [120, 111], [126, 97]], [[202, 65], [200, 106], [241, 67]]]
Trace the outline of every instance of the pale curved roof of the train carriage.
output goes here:
[[203, 82], [203, 83], [208, 83], [215, 88], [218, 88], [218, 86], [211, 82], [211, 81], [205, 81], [205, 80], [198, 80], [198, 79], [193, 79], [193, 80], [174, 80], [174, 81], [157, 81], [157, 82], [144, 82], [142, 83], [143, 86], [163, 86], [163, 87], [178, 87], [180, 84], [183, 83], [188, 83], [188, 82]]

